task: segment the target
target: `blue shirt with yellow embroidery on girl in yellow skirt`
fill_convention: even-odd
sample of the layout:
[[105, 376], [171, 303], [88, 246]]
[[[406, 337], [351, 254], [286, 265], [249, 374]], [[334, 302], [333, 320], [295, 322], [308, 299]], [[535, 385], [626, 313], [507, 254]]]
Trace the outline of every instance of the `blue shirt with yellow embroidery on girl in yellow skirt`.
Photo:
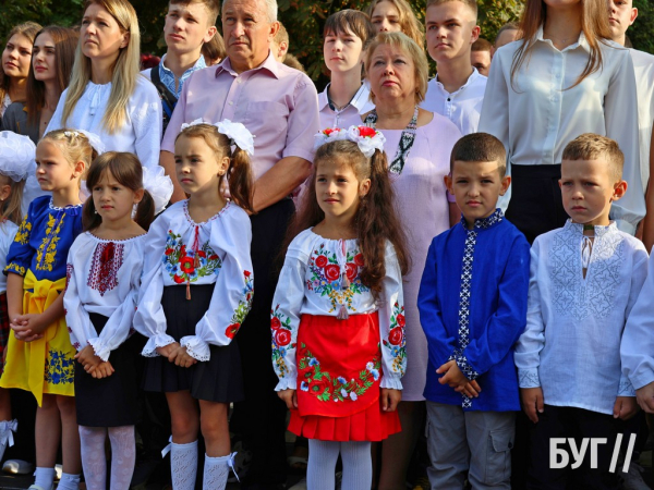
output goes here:
[[37, 281], [65, 278], [68, 252], [81, 232], [82, 205], [58, 208], [50, 196], [37, 197], [9, 248], [4, 273], [24, 277], [31, 270]]

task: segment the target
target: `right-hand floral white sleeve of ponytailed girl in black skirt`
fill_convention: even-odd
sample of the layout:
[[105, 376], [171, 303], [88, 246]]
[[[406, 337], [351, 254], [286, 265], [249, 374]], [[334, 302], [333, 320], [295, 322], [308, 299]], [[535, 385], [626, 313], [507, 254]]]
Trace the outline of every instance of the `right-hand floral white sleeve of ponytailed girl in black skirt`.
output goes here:
[[250, 217], [233, 204], [229, 211], [211, 222], [209, 245], [222, 256], [222, 264], [209, 309], [195, 326], [195, 335], [183, 336], [180, 341], [189, 355], [197, 360], [209, 360], [209, 344], [228, 345], [232, 341], [254, 296]]

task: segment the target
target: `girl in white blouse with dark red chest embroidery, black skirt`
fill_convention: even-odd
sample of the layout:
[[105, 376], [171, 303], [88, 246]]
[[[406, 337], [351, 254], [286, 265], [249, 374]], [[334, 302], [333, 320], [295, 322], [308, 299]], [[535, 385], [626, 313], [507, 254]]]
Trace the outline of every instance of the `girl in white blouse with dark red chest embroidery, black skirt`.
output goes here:
[[[88, 172], [85, 233], [68, 256], [63, 299], [75, 369], [75, 405], [86, 487], [107, 488], [105, 441], [111, 442], [111, 487], [129, 488], [134, 471], [140, 387], [131, 336], [143, 270], [145, 233], [155, 204], [132, 154], [109, 151]], [[169, 196], [170, 197], [170, 196]], [[132, 211], [136, 212], [132, 218]], [[143, 344], [141, 344], [141, 347]], [[120, 455], [120, 457], [119, 457]]]

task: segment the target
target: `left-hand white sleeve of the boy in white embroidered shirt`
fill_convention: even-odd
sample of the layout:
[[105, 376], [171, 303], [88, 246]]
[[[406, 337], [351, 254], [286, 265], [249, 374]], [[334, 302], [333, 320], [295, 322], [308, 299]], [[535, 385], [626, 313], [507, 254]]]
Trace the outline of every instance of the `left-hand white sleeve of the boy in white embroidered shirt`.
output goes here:
[[537, 281], [538, 252], [540, 241], [536, 238], [531, 248], [526, 328], [518, 339], [513, 354], [520, 388], [538, 388], [541, 385], [538, 366], [541, 365], [541, 351], [545, 346], [545, 321], [541, 310], [541, 292]]

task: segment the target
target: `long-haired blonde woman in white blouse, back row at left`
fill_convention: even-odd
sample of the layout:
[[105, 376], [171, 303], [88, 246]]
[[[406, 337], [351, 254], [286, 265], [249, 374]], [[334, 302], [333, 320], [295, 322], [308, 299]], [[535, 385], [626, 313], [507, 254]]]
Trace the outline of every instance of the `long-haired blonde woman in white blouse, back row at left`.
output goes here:
[[138, 71], [141, 34], [126, 0], [86, 2], [69, 88], [46, 131], [90, 131], [109, 151], [135, 154], [144, 167], [159, 163], [161, 101]]

